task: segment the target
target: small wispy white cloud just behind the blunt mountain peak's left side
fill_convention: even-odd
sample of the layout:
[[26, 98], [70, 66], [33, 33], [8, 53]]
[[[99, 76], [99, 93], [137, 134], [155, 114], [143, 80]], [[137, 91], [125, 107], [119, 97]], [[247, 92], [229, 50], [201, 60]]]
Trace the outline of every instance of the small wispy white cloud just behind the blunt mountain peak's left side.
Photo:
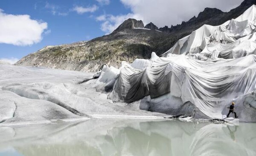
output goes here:
[[106, 34], [109, 34], [128, 18], [134, 18], [137, 20], [143, 19], [142, 17], [140, 17], [140, 15], [137, 15], [137, 14], [125, 14], [125, 15], [118, 15], [118, 16], [113, 16], [111, 14], [108, 14], [108, 15], [102, 15], [102, 16], [96, 17], [96, 20], [103, 21], [103, 23], [101, 24], [101, 30], [106, 32]]

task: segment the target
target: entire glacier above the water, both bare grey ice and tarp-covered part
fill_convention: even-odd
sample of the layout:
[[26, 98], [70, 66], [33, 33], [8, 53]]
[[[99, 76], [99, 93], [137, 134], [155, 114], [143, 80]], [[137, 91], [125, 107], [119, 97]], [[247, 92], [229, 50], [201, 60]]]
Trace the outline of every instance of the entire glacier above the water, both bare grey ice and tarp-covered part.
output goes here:
[[[256, 122], [255, 26], [253, 5], [160, 57], [152, 52], [95, 74], [0, 63], [0, 125], [173, 116]], [[238, 119], [226, 118], [231, 102]]]

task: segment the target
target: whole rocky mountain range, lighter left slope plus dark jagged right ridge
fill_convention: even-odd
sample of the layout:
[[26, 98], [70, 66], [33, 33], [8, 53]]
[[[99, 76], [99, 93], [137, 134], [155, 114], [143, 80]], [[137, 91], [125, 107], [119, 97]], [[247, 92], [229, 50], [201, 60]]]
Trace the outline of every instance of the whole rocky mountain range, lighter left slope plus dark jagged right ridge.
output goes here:
[[198, 17], [192, 17], [189, 21], [171, 28], [165, 26], [157, 29], [153, 23], [144, 28], [142, 21], [128, 19], [111, 34], [87, 42], [47, 46], [23, 57], [16, 65], [76, 71], [97, 71], [103, 64], [119, 67], [122, 61], [132, 62], [136, 58], [149, 58], [152, 51], [157, 55], [163, 54], [177, 40], [204, 24], [221, 25], [238, 17], [253, 4], [256, 4], [256, 0], [245, 0], [229, 12], [206, 8]]

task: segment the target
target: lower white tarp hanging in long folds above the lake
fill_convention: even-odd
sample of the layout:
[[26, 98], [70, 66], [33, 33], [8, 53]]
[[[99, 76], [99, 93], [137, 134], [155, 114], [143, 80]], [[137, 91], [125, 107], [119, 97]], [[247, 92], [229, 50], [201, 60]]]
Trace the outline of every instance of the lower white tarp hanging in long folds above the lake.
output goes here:
[[[159, 58], [144, 70], [122, 68], [109, 97], [116, 102], [134, 102], [165, 94], [191, 102], [211, 118], [256, 90], [256, 55], [239, 59], [201, 61], [175, 55]], [[169, 101], [172, 103], [172, 101]], [[240, 102], [243, 105], [243, 102]]]

